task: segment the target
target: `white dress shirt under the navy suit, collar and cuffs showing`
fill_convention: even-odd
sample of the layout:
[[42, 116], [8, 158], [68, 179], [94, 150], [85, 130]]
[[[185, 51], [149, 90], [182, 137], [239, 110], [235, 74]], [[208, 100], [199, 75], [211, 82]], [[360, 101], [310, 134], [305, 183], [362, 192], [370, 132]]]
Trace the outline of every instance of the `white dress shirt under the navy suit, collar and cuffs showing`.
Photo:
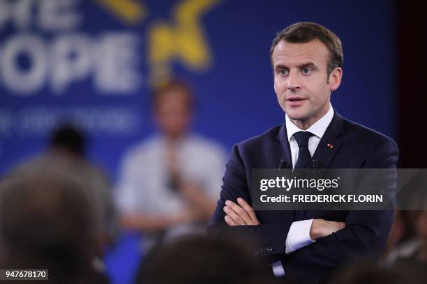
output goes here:
[[[319, 120], [317, 120], [313, 125], [308, 127], [308, 129], [303, 130], [294, 125], [290, 118], [285, 115], [285, 123], [286, 123], [286, 132], [287, 132], [287, 140], [289, 141], [291, 157], [292, 157], [292, 168], [297, 164], [298, 159], [298, 143], [294, 139], [294, 134], [299, 131], [308, 131], [313, 133], [314, 135], [308, 139], [308, 150], [310, 151], [311, 157], [313, 157], [317, 145], [320, 143], [320, 139], [322, 139], [324, 132], [328, 128], [329, 124], [334, 117], [334, 109], [331, 104], [329, 104], [329, 111], [322, 116]], [[299, 250], [299, 248], [304, 248], [304, 246], [308, 246], [309, 244], [313, 244], [312, 239], [310, 239], [310, 228], [313, 223], [313, 219], [295, 221], [291, 224], [289, 232], [287, 232], [286, 237], [286, 251], [285, 253], [289, 254], [294, 251]], [[273, 272], [276, 277], [285, 276], [285, 270], [283, 269], [282, 262], [277, 261], [272, 265]]]

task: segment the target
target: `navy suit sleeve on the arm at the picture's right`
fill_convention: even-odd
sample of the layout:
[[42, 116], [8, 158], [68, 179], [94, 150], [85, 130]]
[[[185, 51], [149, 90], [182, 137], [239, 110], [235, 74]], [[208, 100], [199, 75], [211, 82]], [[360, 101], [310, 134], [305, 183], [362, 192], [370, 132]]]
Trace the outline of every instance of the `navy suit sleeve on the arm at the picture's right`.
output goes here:
[[[382, 140], [364, 168], [396, 168], [398, 148], [391, 139]], [[314, 244], [301, 248], [283, 258], [287, 277], [297, 280], [308, 267], [317, 271], [329, 271], [354, 255], [378, 255], [389, 236], [393, 212], [350, 211], [345, 219], [345, 228], [317, 239]]]

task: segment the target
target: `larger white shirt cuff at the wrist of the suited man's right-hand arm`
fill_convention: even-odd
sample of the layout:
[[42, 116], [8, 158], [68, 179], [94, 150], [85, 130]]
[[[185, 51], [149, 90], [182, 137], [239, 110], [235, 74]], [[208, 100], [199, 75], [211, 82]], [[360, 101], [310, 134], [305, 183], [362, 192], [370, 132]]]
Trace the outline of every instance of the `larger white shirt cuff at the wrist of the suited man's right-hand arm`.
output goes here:
[[292, 253], [299, 250], [299, 248], [304, 248], [304, 246], [315, 242], [313, 239], [310, 239], [312, 223], [313, 219], [296, 221], [291, 224], [289, 232], [287, 232], [285, 253]]

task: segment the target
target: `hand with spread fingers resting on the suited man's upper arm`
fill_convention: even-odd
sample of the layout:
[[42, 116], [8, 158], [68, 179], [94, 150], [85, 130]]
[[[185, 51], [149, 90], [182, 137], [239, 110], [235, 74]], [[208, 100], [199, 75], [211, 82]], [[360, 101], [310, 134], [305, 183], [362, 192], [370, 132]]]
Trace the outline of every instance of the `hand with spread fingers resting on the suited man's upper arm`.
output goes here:
[[228, 226], [260, 225], [255, 211], [243, 198], [237, 198], [237, 203], [239, 205], [230, 200], [225, 201], [224, 212], [227, 215], [224, 219]]

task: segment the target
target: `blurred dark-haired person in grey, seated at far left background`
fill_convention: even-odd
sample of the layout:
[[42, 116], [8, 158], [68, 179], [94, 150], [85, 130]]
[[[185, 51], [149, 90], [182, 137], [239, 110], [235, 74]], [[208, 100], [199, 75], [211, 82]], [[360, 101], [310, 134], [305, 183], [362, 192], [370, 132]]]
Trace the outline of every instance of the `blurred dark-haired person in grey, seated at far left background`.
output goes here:
[[118, 231], [110, 182], [99, 168], [85, 159], [87, 142], [80, 129], [70, 123], [61, 123], [52, 131], [49, 140], [47, 151], [24, 161], [10, 175], [19, 177], [28, 172], [49, 174], [79, 184], [95, 216], [96, 251], [101, 260], [105, 246], [114, 243]]

